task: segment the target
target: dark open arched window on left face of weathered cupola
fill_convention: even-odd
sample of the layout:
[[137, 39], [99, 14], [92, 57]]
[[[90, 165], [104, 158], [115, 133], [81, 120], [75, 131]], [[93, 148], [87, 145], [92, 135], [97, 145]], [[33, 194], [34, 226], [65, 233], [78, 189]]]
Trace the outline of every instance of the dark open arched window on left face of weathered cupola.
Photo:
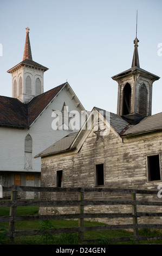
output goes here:
[[131, 86], [126, 83], [123, 90], [123, 101], [122, 101], [122, 114], [127, 115], [131, 113]]

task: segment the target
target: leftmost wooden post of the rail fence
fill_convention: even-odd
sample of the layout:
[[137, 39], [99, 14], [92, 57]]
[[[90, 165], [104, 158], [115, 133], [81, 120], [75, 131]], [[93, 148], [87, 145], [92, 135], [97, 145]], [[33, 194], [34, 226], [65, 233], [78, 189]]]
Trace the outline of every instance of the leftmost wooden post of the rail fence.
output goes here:
[[[14, 186], [14, 190], [11, 191], [11, 201], [17, 200], [17, 186]], [[14, 203], [15, 205], [15, 203]], [[15, 220], [16, 206], [10, 206], [10, 216], [12, 216], [12, 221], [9, 222], [9, 232], [12, 232], [11, 238], [14, 239], [13, 232], [15, 231]]]

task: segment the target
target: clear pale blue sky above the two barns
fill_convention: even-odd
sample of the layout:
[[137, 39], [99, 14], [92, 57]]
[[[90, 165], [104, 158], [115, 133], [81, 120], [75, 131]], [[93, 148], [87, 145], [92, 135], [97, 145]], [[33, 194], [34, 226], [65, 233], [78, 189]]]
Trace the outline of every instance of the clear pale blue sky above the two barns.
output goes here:
[[7, 70], [22, 61], [29, 27], [33, 60], [49, 68], [44, 92], [68, 81], [87, 110], [116, 113], [111, 77], [131, 68], [137, 10], [140, 68], [161, 77], [152, 114], [162, 112], [161, 0], [0, 0], [0, 95], [11, 97]]

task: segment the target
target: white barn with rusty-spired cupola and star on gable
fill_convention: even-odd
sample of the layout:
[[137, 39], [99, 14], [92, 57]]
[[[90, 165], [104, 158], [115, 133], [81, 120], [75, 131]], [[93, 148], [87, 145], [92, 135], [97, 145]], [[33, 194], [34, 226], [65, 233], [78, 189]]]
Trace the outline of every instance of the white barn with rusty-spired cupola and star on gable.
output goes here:
[[3, 186], [40, 186], [41, 159], [34, 156], [72, 132], [69, 126], [54, 129], [54, 111], [85, 111], [68, 82], [44, 93], [43, 75], [48, 68], [33, 61], [26, 30], [23, 60], [7, 71], [12, 75], [12, 97], [0, 96]]

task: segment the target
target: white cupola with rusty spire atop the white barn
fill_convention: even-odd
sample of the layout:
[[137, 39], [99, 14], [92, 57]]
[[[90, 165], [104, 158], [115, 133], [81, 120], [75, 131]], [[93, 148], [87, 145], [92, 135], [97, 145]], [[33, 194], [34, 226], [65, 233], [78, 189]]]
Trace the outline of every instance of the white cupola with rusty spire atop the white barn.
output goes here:
[[48, 70], [33, 61], [31, 55], [29, 28], [26, 28], [23, 60], [7, 72], [12, 75], [12, 97], [28, 103], [44, 92], [44, 72]]

